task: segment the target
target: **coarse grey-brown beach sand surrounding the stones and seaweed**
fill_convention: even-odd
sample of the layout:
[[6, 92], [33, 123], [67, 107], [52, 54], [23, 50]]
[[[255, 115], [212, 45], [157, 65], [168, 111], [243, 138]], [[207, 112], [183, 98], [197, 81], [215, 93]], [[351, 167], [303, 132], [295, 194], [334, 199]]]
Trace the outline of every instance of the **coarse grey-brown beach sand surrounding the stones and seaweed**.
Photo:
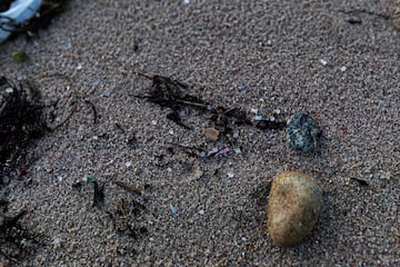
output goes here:
[[[29, 61], [13, 62], [17, 50]], [[28, 209], [21, 224], [44, 244], [19, 263], [0, 255], [0, 266], [400, 265], [399, 55], [397, 0], [71, 1], [30, 41], [0, 44], [1, 76], [59, 99], [49, 123], [76, 108], [27, 148], [27, 175], [12, 171], [1, 188], [8, 215]], [[308, 110], [321, 145], [293, 151], [284, 130], [249, 125], [210, 141], [204, 128], [222, 132], [210, 115], [189, 108], [191, 129], [174, 123], [134, 97], [151, 87], [137, 72], [252, 119]], [[317, 227], [292, 248], [267, 230], [268, 188], [283, 170], [324, 191]], [[100, 208], [87, 175], [104, 186]]]

